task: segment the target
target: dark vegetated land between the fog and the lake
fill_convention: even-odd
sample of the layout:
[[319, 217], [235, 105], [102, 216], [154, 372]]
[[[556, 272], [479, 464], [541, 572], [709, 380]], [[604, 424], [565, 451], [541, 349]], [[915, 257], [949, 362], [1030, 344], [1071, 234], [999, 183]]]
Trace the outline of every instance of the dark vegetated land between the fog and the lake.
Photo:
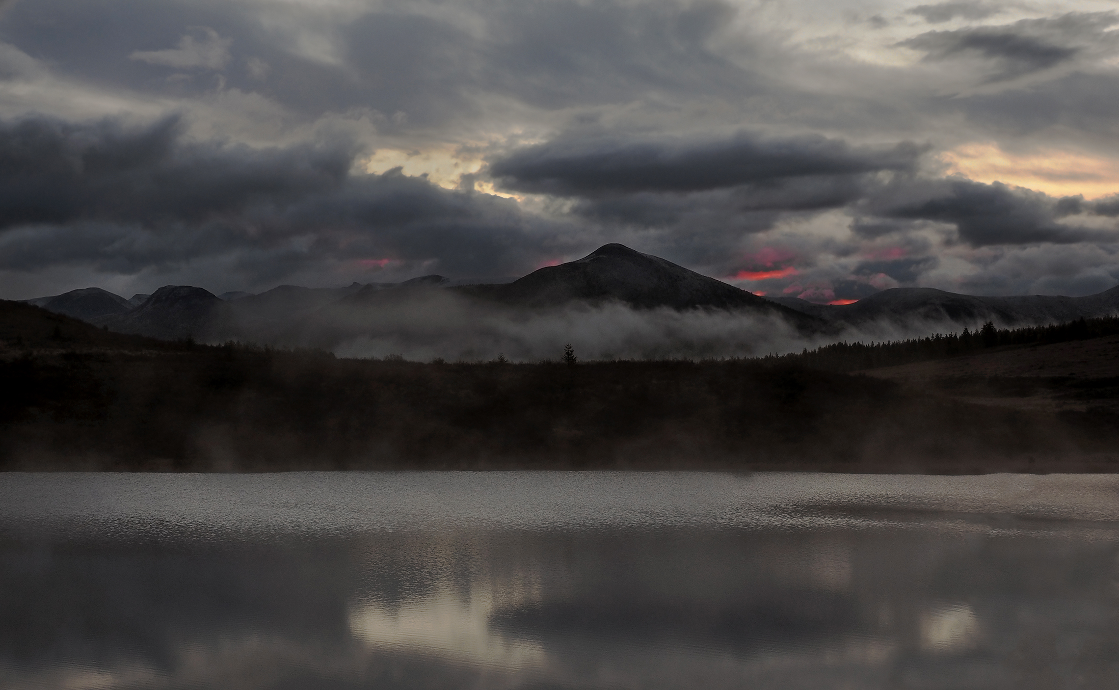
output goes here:
[[2, 309], [25, 321], [0, 331], [7, 470], [1119, 467], [1110, 413], [971, 405], [793, 362], [338, 360]]

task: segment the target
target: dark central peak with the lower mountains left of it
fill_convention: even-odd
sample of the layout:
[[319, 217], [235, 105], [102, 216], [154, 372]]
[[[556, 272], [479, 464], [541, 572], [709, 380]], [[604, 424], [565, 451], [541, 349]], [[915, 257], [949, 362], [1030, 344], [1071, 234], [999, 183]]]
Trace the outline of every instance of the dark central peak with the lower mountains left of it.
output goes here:
[[403, 283], [352, 283], [337, 289], [281, 285], [255, 295], [234, 292], [220, 296], [201, 287], [167, 285], [130, 300], [87, 287], [26, 302], [122, 333], [313, 344], [325, 344], [323, 339], [308, 337], [308, 332], [338, 330], [342, 322], [347, 324], [344, 330], [359, 331], [360, 323], [355, 321], [374, 318], [370, 312], [416, 306], [440, 293], [476, 306], [506, 310], [620, 302], [645, 310], [713, 309], [780, 316], [806, 332], [824, 324], [814, 315], [619, 244], [511, 282], [461, 283], [426, 275]]

